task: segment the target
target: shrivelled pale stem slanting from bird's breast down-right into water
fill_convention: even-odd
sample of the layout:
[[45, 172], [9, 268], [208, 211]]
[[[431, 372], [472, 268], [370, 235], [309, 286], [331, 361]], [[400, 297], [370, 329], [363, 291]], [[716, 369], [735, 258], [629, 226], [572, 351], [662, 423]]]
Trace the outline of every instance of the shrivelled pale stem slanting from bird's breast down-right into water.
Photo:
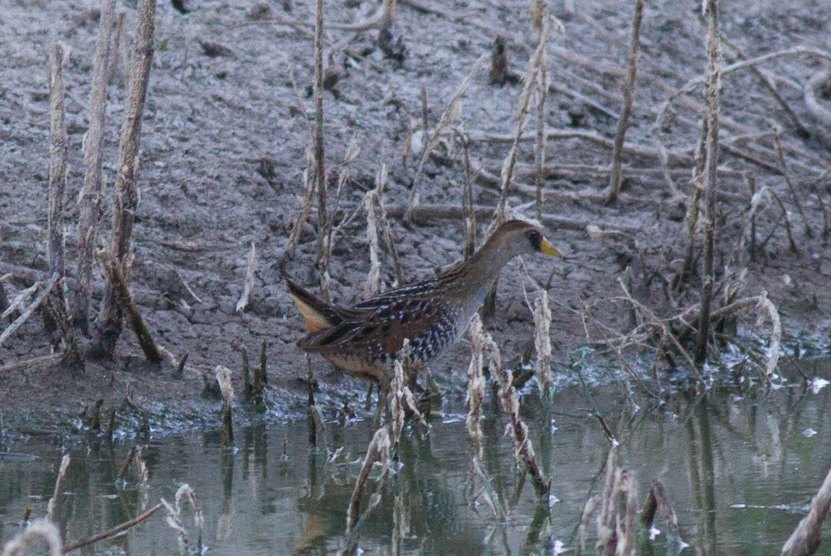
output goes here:
[[[474, 315], [471, 322], [476, 322], [479, 315]], [[499, 353], [499, 347], [490, 336], [488, 332], [481, 329], [481, 322], [479, 327], [473, 325], [475, 329], [479, 330], [479, 342], [481, 342], [484, 354], [488, 356], [488, 366], [491, 374], [496, 378], [499, 384], [499, 404], [510, 418], [509, 431], [511, 438], [514, 439], [514, 458], [521, 462], [531, 475], [531, 482], [534, 484], [534, 491], [537, 496], [542, 498], [548, 495], [550, 482], [543, 475], [543, 470], [537, 465], [537, 460], [534, 455], [534, 445], [531, 444], [531, 439], [528, 435], [528, 426], [519, 417], [519, 398], [517, 397], [516, 389], [513, 386], [513, 377], [510, 371], [502, 364], [502, 356]]]

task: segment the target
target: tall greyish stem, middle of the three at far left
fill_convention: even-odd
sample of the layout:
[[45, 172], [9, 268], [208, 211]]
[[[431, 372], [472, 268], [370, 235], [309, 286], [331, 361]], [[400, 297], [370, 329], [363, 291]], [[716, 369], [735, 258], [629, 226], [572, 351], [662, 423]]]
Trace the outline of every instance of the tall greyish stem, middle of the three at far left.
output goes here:
[[[78, 284], [73, 299], [72, 320], [86, 336], [90, 327], [90, 298], [92, 295], [92, 251], [96, 230], [101, 220], [101, 160], [104, 157], [104, 124], [106, 121], [107, 62], [110, 59], [113, 19], [116, 0], [105, 0], [101, 5], [98, 23], [96, 53], [92, 62], [90, 90], [90, 127], [84, 137], [84, 185], [78, 198]], [[123, 13], [119, 19], [123, 21]], [[116, 42], [116, 49], [118, 44]], [[113, 66], [116, 66], [116, 54]]]

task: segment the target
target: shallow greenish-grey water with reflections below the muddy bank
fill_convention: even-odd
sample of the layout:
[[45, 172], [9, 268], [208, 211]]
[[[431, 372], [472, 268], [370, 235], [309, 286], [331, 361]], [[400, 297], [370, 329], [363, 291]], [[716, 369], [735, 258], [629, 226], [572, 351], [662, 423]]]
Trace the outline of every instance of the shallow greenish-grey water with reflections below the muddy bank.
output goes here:
[[[809, 372], [827, 376], [828, 362], [819, 367]], [[470, 469], [463, 408], [459, 401], [445, 401], [424, 439], [406, 432], [401, 468], [361, 529], [361, 549], [394, 554], [394, 532], [401, 554], [552, 554], [547, 547], [556, 540], [573, 549], [583, 505], [600, 489], [609, 442], [588, 415], [583, 391], [557, 393], [556, 429], [550, 433], [536, 399], [524, 397], [523, 413], [538, 458], [553, 477], [551, 492], [558, 501], [548, 517], [529, 482], [516, 496], [511, 441], [503, 435], [504, 418], [490, 403], [482, 422], [485, 466], [512, 509], [500, 520], [483, 498], [473, 502], [479, 483]], [[596, 389], [593, 399], [620, 441], [622, 466], [635, 473], [638, 508], [653, 479], [666, 486], [681, 539], [691, 545], [681, 554], [779, 554], [831, 464], [831, 388], [813, 393], [788, 387], [744, 396], [718, 391], [706, 400], [678, 396], [662, 406], [643, 403], [637, 411], [620, 386]], [[0, 446], [37, 455], [35, 460], [0, 457], [0, 539], [16, 533], [26, 505], [32, 506], [32, 517], [45, 513], [66, 449], [72, 460], [57, 519], [67, 541], [130, 519], [160, 497], [172, 500], [186, 482], [204, 511], [209, 554], [337, 552], [357, 464], [324, 465], [324, 455], [310, 454], [304, 420], [236, 432], [236, 453], [223, 450], [215, 432], [151, 439], [145, 449], [147, 489], [136, 486], [132, 471], [125, 486], [116, 481], [130, 450], [127, 442], [62, 447], [38, 438]], [[342, 446], [338, 460], [355, 461], [373, 432], [368, 421], [328, 423], [328, 450]], [[371, 483], [369, 490], [374, 489]], [[193, 543], [187, 512], [186, 517]], [[664, 532], [642, 545], [643, 552], [650, 548], [654, 554], [678, 554], [676, 541], [667, 543]], [[829, 550], [828, 544], [822, 549]], [[175, 532], [159, 513], [81, 554], [175, 550]]]

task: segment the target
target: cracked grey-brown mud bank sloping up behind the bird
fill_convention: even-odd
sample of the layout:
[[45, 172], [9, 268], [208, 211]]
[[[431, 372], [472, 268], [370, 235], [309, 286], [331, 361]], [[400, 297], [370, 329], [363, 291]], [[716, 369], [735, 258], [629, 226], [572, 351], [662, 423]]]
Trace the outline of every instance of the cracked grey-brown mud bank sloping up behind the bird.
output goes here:
[[[211, 406], [198, 396], [204, 373], [219, 364], [238, 370], [240, 347], [244, 344], [249, 352], [257, 352], [263, 340], [268, 342], [271, 385], [278, 392], [292, 392], [283, 396], [289, 400], [283, 401], [286, 411], [293, 396], [297, 403], [302, 400], [305, 360], [294, 346], [302, 322], [276, 264], [283, 257], [303, 192], [305, 151], [310, 144], [307, 121], [312, 116], [312, 101], [306, 96], [312, 83], [312, 42], [310, 27], [263, 19], [311, 22], [312, 5], [293, 2], [287, 13], [280, 2], [185, 3], [192, 4], [187, 13], [170, 2], [160, 2], [157, 9], [131, 271], [136, 302], [156, 341], [175, 358], [189, 354], [184, 380], [172, 379], [170, 368], [143, 367], [135, 339], [125, 331], [116, 361], [90, 364], [83, 375], [51, 364], [3, 372], [0, 396], [5, 413], [42, 415], [55, 407], [66, 416], [98, 397], [105, 398], [107, 405], [120, 403], [129, 391], [138, 404], [184, 406], [181, 413], [164, 411], [182, 421], [198, 419]], [[331, 19], [327, 22], [361, 21], [375, 7], [372, 2], [347, 2], [327, 13]], [[88, 126], [97, 6], [2, 0], [0, 8], [4, 14], [0, 33], [6, 38], [0, 46], [5, 60], [0, 88], [0, 262], [6, 265], [2, 273], [12, 273], [3, 285], [13, 298], [32, 285], [31, 270], [47, 268], [46, 52], [59, 40], [71, 49], [65, 69], [70, 134], [66, 244], [68, 272], [75, 272], [76, 199], [83, 183], [81, 141]], [[617, 280], [628, 276], [627, 268], [632, 276], [627, 283], [635, 298], [659, 314], [671, 303], [666, 284], [686, 250], [684, 218], [692, 191], [688, 176], [701, 135], [699, 93], [676, 95], [676, 91], [701, 75], [704, 49], [696, 12], [674, 4], [647, 8], [637, 95], [627, 132], [627, 144], [633, 146], [623, 159], [622, 196], [617, 204], [607, 205], [599, 194], [607, 185], [604, 167], [610, 160], [603, 145], [614, 135], [621, 106], [618, 91], [626, 67], [631, 13], [628, 7], [611, 9], [603, 2], [589, 2], [580, 13], [569, 13], [558, 2], [549, 8], [563, 21], [565, 33], [554, 35], [548, 50], [549, 167], [541, 212], [550, 215], [543, 223], [567, 258], [555, 262], [525, 258], [528, 273], [519, 265], [506, 268], [499, 281], [498, 311], [486, 326], [506, 357], [521, 354], [533, 333], [524, 291], [533, 300], [539, 288], [548, 286], [555, 359], [565, 362], [569, 350], [600, 347], [598, 342], [629, 330], [628, 309], [602, 301], [622, 295]], [[135, 5], [124, 2], [119, 9], [125, 13], [129, 34]], [[745, 57], [800, 46], [831, 50], [831, 7], [823, 2], [770, 7], [748, 1], [723, 9], [722, 30], [737, 47], [725, 43], [728, 58], [738, 57], [739, 50]], [[403, 154], [405, 145], [412, 147], [413, 132], [421, 125], [422, 88], [431, 128], [475, 60], [491, 50], [497, 34], [506, 37], [510, 68], [516, 74], [524, 71], [536, 37], [524, 5], [520, 9], [510, 2], [456, 2], [452, 7], [401, 2], [395, 31], [406, 47], [403, 61], [384, 55], [376, 46], [375, 30], [332, 27], [327, 33], [327, 40], [337, 46], [327, 53], [332, 53], [329, 63], [337, 66], [339, 78], [337, 94], [327, 92], [324, 99], [324, 131], [332, 180], [337, 179], [348, 142], [354, 138], [361, 147], [351, 165], [338, 221], [360, 206], [381, 163], [387, 165], [390, 177], [384, 201], [393, 215], [392, 234], [409, 281], [453, 263], [464, 245], [458, 213], [447, 209], [460, 206], [465, 180], [451, 142], [436, 149], [420, 185], [421, 202], [444, 209], [411, 225], [395, 216], [403, 212], [418, 165], [414, 152]], [[126, 44], [121, 42], [121, 70], [107, 90], [104, 171], [109, 184], [115, 175], [125, 110]], [[829, 149], [803, 95], [804, 85], [823, 64], [828, 62], [821, 57], [794, 55], [775, 57], [760, 66], [782, 102], [753, 71], [733, 71], [723, 77], [725, 146], [720, 159], [724, 171], [719, 184], [717, 263], [735, 273], [732, 283], [743, 288], [743, 295], [768, 293], [782, 317], [784, 351], [800, 354], [806, 346], [816, 352], [827, 349], [831, 330], [827, 312], [831, 262], [824, 234]], [[289, 69], [296, 77], [302, 108], [297, 107]], [[492, 208], [498, 200], [494, 175], [499, 175], [509, 150], [505, 137], [514, 133], [520, 91], [519, 85], [489, 84], [484, 70], [470, 81], [463, 100], [456, 127], [470, 135], [472, 168], [479, 172], [475, 203], [482, 207]], [[819, 92], [819, 105], [829, 106], [831, 101]], [[669, 98], [671, 108], [664, 111]], [[661, 111], [664, 117], [656, 126]], [[772, 125], [781, 128], [784, 166], [776, 156]], [[420, 137], [423, 141], [423, 133]], [[656, 156], [661, 147], [669, 153], [666, 175]], [[535, 214], [534, 175], [529, 171], [533, 160], [533, 142], [521, 143], [509, 197], [517, 213], [529, 217]], [[666, 180], [671, 180], [671, 187]], [[748, 219], [749, 183], [755, 191], [775, 193], [761, 199], [753, 228]], [[672, 188], [680, 195], [675, 196]], [[110, 233], [111, 186], [106, 192], [102, 244]], [[314, 267], [314, 222], [312, 213], [297, 253], [286, 264], [288, 273], [310, 287], [319, 280]], [[479, 219], [480, 233], [486, 224], [487, 219]], [[258, 249], [258, 265], [248, 308], [238, 313], [235, 306], [243, 292], [252, 242]], [[382, 278], [389, 286], [393, 273], [388, 254], [384, 256]], [[344, 228], [333, 248], [333, 298], [342, 303], [360, 299], [368, 270], [366, 225], [359, 216]], [[98, 291], [102, 283], [99, 274]], [[696, 277], [691, 283], [691, 288], [699, 287]], [[100, 301], [99, 296], [93, 299], [94, 309]], [[692, 298], [676, 301], [682, 307], [694, 303]], [[760, 335], [764, 345], [770, 324], [755, 328], [757, 312], [749, 309], [740, 318], [738, 331], [743, 337]], [[34, 317], [0, 347], [0, 365], [48, 352], [42, 321]], [[433, 365], [433, 375], [443, 386], [458, 390], [467, 357], [468, 347], [461, 342]], [[322, 360], [313, 364], [322, 391], [359, 396], [363, 385], [340, 376]], [[274, 397], [280, 407], [281, 396]]]

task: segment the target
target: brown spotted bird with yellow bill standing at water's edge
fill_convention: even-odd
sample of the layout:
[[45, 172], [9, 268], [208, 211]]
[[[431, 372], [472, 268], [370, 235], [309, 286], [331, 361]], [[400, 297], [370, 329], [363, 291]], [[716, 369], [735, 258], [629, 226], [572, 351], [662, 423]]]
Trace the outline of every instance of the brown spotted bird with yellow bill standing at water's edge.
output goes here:
[[534, 225], [509, 220], [467, 261], [351, 308], [330, 305], [287, 278], [308, 332], [297, 346], [320, 353], [349, 375], [386, 386], [405, 338], [416, 365], [439, 356], [465, 332], [504, 265], [535, 252], [561, 256]]

